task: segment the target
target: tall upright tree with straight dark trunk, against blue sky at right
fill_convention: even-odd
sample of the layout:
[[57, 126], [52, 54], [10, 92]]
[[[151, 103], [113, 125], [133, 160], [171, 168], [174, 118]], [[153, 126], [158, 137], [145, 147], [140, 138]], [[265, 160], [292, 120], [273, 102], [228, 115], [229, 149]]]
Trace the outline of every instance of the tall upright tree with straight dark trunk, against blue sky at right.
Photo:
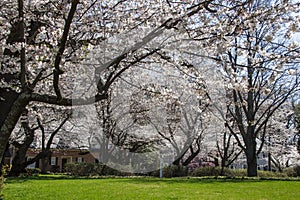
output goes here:
[[[239, 35], [222, 36], [231, 42], [220, 43], [217, 56], [209, 57], [223, 68], [231, 91], [227, 109], [237, 128], [229, 121], [226, 127], [246, 154], [248, 176], [257, 176], [257, 154], [270, 117], [299, 91], [299, 46], [291, 39], [298, 31], [297, 9], [288, 1], [258, 0], [238, 8], [240, 16], [228, 11], [229, 18], [220, 17], [224, 23], [239, 21]], [[248, 18], [249, 13], [259, 18]]]

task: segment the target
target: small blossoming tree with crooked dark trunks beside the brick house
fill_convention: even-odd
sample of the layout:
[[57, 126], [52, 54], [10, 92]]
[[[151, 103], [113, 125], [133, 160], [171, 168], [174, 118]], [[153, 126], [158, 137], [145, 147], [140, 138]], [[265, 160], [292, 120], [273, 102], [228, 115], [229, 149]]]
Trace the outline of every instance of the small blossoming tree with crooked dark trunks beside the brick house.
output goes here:
[[[42, 112], [47, 110], [49, 113], [53, 113], [53, 116], [56, 118], [48, 118], [46, 116], [45, 119], [41, 115], [37, 116], [37, 110], [42, 110]], [[35, 106], [34, 109], [23, 113], [20, 119], [21, 127], [16, 127], [10, 138], [10, 143], [13, 145], [15, 153], [8, 175], [19, 176], [20, 173], [25, 172], [25, 168], [28, 165], [40, 160], [42, 173], [46, 173], [45, 167], [51, 156], [51, 147], [53, 147], [56, 136], [62, 130], [69, 117], [70, 113], [68, 110], [53, 112], [53, 108], [45, 108], [45, 106], [42, 109], [38, 109]], [[53, 127], [55, 128], [53, 129]], [[34, 158], [26, 159], [26, 152], [29, 148], [39, 149], [40, 152]]]

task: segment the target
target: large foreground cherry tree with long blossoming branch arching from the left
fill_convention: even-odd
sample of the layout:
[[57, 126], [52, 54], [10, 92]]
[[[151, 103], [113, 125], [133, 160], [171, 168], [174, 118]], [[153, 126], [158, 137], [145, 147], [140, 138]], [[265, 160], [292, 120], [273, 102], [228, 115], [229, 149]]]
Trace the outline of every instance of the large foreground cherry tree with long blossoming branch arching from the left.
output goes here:
[[[246, 58], [251, 62], [251, 66], [260, 65], [262, 61], [259, 58], [267, 58], [268, 63], [283, 66], [279, 70], [293, 74], [295, 71], [292, 68], [287, 69], [285, 64], [294, 62], [295, 58], [299, 57], [298, 47], [294, 43], [279, 41], [277, 38], [280, 37], [275, 37], [274, 34], [286, 30], [285, 36], [289, 37], [297, 29], [295, 21], [298, 16], [290, 15], [296, 19], [294, 21], [286, 17], [297, 9], [297, 6], [285, 0], [274, 3], [272, 1], [268, 5], [270, 6], [261, 6], [252, 0], [2, 1], [0, 155], [3, 156], [8, 138], [30, 102], [72, 106], [103, 100], [107, 98], [109, 88], [124, 72], [135, 69], [139, 63], [150, 57], [168, 60], [171, 56], [176, 63], [186, 65], [188, 62], [184, 62], [187, 60], [184, 57], [187, 50], [191, 55], [193, 50], [209, 47], [206, 48], [205, 56], [212, 57], [215, 53], [226, 53], [224, 49], [236, 47], [242, 54], [247, 50], [256, 53], [249, 54], [250, 57], [247, 57], [248, 53], [239, 55], [241, 59], [235, 60], [239, 68], [240, 65], [244, 66], [240, 62]], [[254, 34], [255, 29], [259, 27], [256, 26], [257, 21], [261, 27], [265, 27], [261, 32], [263, 37], [260, 37], [261, 34], [259, 37]], [[278, 21], [289, 27], [278, 28]], [[265, 34], [268, 30], [269, 34]], [[125, 37], [122, 37], [122, 34]], [[121, 37], [115, 37], [116, 35]], [[163, 35], [165, 37], [162, 37]], [[118, 39], [116, 42], [123, 43], [119, 48], [110, 48], [109, 38], [114, 37]], [[172, 43], [168, 42], [168, 38], [172, 38]], [[237, 45], [247, 39], [251, 40], [248, 42], [251, 48], [247, 45]], [[264, 46], [253, 46], [255, 42], [252, 39], [266, 43], [272, 48], [268, 50]], [[193, 45], [191, 41], [194, 42]], [[178, 42], [181, 49], [178, 49]], [[195, 45], [195, 42], [198, 44]], [[110, 49], [108, 52], [117, 50], [118, 53], [106, 55], [106, 59], [102, 59], [104, 62], [101, 59], [99, 62], [96, 55], [101, 53], [99, 49], [103, 44], [108, 45], [105, 47]], [[123, 48], [124, 44], [126, 48]], [[271, 50], [274, 50], [274, 53], [270, 53]], [[91, 56], [90, 52], [95, 56]], [[257, 57], [257, 52], [264, 57]], [[227, 61], [232, 63], [234, 56], [227, 56], [225, 59], [223, 56], [214, 58], [223, 64], [228, 63], [227, 58]], [[266, 63], [264, 59], [263, 61]], [[94, 76], [85, 78], [93, 80], [97, 89], [91, 93], [82, 91], [85, 93], [82, 96], [77, 91], [77, 96], [74, 97], [72, 88], [79, 83], [78, 74], [84, 71], [79, 66], [86, 66], [85, 71], [94, 71]], [[264, 68], [265, 74], [272, 74], [266, 66]], [[228, 72], [227, 69], [224, 67], [225, 72]], [[234, 74], [243, 76], [244, 72], [234, 71]], [[234, 77], [231, 77], [231, 80], [234, 80]], [[241, 80], [242, 77], [238, 81]], [[235, 81], [231, 81], [230, 84], [236, 88]], [[278, 89], [277, 86], [276, 91], [282, 91], [283, 88]], [[273, 89], [275, 90], [275, 87]], [[271, 93], [272, 91], [271, 88]], [[252, 92], [250, 93], [252, 95]], [[252, 121], [248, 120], [251, 123]]]

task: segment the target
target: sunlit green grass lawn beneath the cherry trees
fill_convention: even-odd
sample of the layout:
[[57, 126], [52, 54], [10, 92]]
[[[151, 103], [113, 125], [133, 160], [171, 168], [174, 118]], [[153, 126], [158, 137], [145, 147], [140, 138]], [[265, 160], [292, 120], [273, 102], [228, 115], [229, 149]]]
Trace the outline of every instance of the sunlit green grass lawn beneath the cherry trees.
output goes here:
[[3, 200], [300, 199], [300, 181], [196, 178], [7, 179]]

